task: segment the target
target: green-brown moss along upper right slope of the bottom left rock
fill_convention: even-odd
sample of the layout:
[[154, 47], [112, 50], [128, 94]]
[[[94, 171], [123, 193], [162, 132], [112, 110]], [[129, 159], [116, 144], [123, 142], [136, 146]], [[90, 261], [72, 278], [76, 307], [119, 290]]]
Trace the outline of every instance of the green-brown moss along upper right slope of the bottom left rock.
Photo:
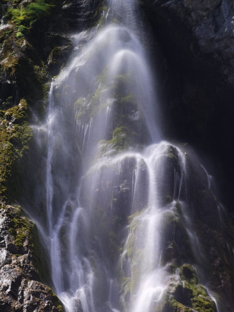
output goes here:
[[[9, 245], [11, 246], [11, 257], [14, 259], [14, 266], [19, 266], [28, 274], [34, 271], [38, 275], [41, 282], [51, 285], [49, 267], [44, 249], [41, 247], [40, 238], [38, 236], [36, 224], [24, 216], [21, 207], [17, 205], [5, 205], [1, 203], [1, 216], [7, 222]], [[15, 247], [14, 247], [15, 246]], [[25, 262], [26, 266], [22, 264]], [[21, 258], [21, 259], [18, 259]], [[36, 276], [35, 276], [36, 277]], [[36, 280], [37, 278], [36, 277]], [[54, 307], [59, 312], [63, 311], [61, 301], [51, 290], [45, 285], [45, 290], [51, 295]], [[56, 310], [56, 311], [57, 311]]]

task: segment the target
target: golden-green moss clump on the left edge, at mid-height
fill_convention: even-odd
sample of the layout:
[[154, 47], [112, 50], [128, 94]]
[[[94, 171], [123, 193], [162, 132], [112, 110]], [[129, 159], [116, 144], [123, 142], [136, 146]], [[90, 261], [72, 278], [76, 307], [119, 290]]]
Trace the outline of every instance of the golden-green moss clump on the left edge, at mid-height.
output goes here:
[[0, 123], [0, 195], [2, 199], [18, 197], [22, 192], [21, 172], [29, 149], [32, 129], [27, 124], [27, 102], [9, 108]]

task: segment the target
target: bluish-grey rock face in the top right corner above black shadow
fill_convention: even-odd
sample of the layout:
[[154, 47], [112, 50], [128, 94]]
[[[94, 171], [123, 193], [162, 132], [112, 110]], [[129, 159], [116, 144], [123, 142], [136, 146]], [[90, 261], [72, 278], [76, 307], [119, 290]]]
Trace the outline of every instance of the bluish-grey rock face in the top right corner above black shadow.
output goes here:
[[[234, 8], [231, 0], [148, 0], [147, 3], [154, 8], [154, 21], [163, 23], [167, 20], [166, 32], [172, 25], [184, 27], [183, 33], [179, 28], [173, 33], [174, 39], [170, 38], [175, 51], [185, 49], [183, 54], [192, 54], [197, 60], [206, 60], [209, 65], [215, 62], [222, 79], [233, 85]], [[201, 65], [198, 63], [197, 66]]]

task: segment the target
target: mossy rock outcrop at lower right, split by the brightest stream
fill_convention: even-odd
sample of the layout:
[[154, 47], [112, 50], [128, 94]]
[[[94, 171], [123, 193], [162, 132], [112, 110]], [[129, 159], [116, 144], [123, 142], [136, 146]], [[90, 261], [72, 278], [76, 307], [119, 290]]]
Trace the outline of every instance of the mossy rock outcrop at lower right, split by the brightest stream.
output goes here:
[[[119, 279], [123, 305], [125, 309], [131, 306], [131, 298], [140, 295], [139, 285], [150, 277], [147, 270], [151, 270], [153, 276], [155, 266], [155, 271], [162, 270], [164, 279], [152, 286], [163, 287], [161, 299], [150, 306], [153, 311], [216, 312], [217, 308], [232, 311], [230, 246], [233, 230], [217, 199], [206, 188], [206, 175], [196, 170], [198, 163], [194, 155], [180, 153], [168, 145], [161, 158], [163, 171], [160, 171], [160, 181], [155, 188], [159, 195], [158, 212], [151, 215], [148, 208], [128, 218], [129, 236], [123, 247], [122, 277]], [[179, 155], [183, 155], [186, 164]], [[174, 192], [164, 184], [168, 176], [174, 181]], [[164, 193], [163, 190], [171, 191]], [[179, 199], [175, 200], [177, 196]], [[148, 226], [147, 219], [156, 215], [158, 223], [155, 224], [155, 242], [152, 243], [143, 233]], [[148, 244], [152, 244], [151, 249], [157, 244], [161, 254], [148, 249]], [[161, 277], [157, 275], [155, 278]], [[218, 306], [210, 294], [217, 299]]]

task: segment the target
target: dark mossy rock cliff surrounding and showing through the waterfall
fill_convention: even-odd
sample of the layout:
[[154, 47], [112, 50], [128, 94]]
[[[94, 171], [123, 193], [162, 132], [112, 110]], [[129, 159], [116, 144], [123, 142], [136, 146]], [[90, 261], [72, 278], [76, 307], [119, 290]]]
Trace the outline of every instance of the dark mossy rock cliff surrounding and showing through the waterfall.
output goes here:
[[[24, 182], [26, 175], [30, 174], [28, 156], [33, 155], [30, 124], [40, 125], [45, 118], [51, 78], [58, 75], [72, 54], [70, 34], [95, 26], [104, 5], [103, 1], [92, 0], [9, 0], [0, 4], [4, 16], [0, 29], [0, 308], [6, 312], [63, 311], [61, 302], [47, 286], [53, 285], [37, 227], [17, 203], [23, 203], [25, 198], [30, 197], [30, 188]], [[166, 94], [162, 110], [169, 120], [164, 131], [169, 139], [190, 141], [204, 154], [212, 155], [220, 182], [227, 181], [223, 183], [227, 191], [223, 188], [221, 193], [227, 196], [226, 203], [229, 203], [228, 192], [233, 187], [233, 160], [230, 153], [234, 113], [233, 2], [146, 0], [140, 1], [140, 5], [152, 30], [151, 40], [157, 41], [157, 48], [152, 44], [151, 55], [160, 50], [162, 56], [162, 64], [158, 66], [163, 77], [162, 93]], [[122, 37], [128, 40], [126, 33]], [[101, 85], [103, 75], [97, 79]], [[123, 79], [127, 78], [118, 77], [116, 89]], [[100, 99], [100, 90], [97, 91], [93, 97], [87, 97], [87, 103], [82, 98], [75, 99], [76, 94], [73, 94], [77, 121], [88, 118], [93, 109], [88, 106], [89, 102], [95, 106]], [[119, 111], [121, 114], [124, 112], [124, 120], [119, 120], [121, 126], [113, 125], [114, 131], [110, 131], [109, 140], [100, 142], [97, 157], [123, 151], [132, 142], [142, 144], [146, 137], [144, 131], [141, 132], [142, 137], [136, 135], [142, 125], [137, 118], [134, 119], [137, 111], [133, 99], [121, 93], [116, 98]], [[76, 106], [82, 101], [85, 109], [76, 111]], [[134, 116], [129, 113], [129, 107]], [[95, 113], [95, 109], [93, 111]], [[121, 115], [119, 111], [115, 112], [117, 116]], [[218, 151], [217, 141], [220, 143]], [[186, 146], [181, 149], [187, 151]], [[173, 175], [172, 172], [179, 165], [175, 147], [168, 145], [165, 158], [164, 174]], [[218, 290], [221, 309], [232, 312], [233, 228], [226, 212], [210, 191], [205, 172], [199, 171], [201, 176], [197, 174], [197, 166], [196, 162], [191, 161], [193, 178], [189, 182], [191, 202], [188, 206], [193, 231], [202, 241], [202, 251], [199, 252], [207, 259], [204, 280], [209, 280], [207, 289]], [[144, 188], [139, 191], [131, 215], [125, 207], [129, 207], [129, 194], [132, 191], [130, 179], [135, 168], [134, 159], [124, 160], [122, 180], [114, 180], [106, 186], [110, 190], [110, 198], [103, 196], [103, 205], [99, 203], [94, 216], [101, 243], [109, 247], [107, 258], [113, 265], [116, 265], [119, 249], [124, 248], [120, 231], [123, 225], [129, 226], [132, 236], [128, 257], [132, 263], [136, 257], [131, 247], [137, 243], [134, 241], [134, 230], [137, 218], [144, 213], [140, 207], [145, 206], [147, 191]], [[144, 163], [140, 176], [143, 181], [147, 179]], [[166, 207], [172, 202], [173, 186], [162, 179], [162, 187], [168, 191], [161, 198]], [[115, 189], [114, 193], [111, 193], [112, 189]], [[96, 194], [102, 191], [97, 188]], [[33, 203], [30, 204], [33, 206]], [[112, 207], [114, 218], [102, 211], [105, 206]], [[37, 209], [31, 207], [36, 214]], [[158, 309], [163, 312], [190, 312], [196, 309], [216, 312], [214, 301], [200, 284], [195, 268], [189, 264], [198, 261], [197, 250], [189, 249], [188, 233], [185, 233], [181, 218], [181, 207], [175, 202], [173, 213], [164, 216], [165, 228], [169, 230], [164, 229], [162, 254], [162, 263], [167, 264], [168, 274], [174, 277], [170, 280], [164, 305]], [[178, 250], [178, 245], [182, 246], [181, 250]], [[199, 261], [202, 263], [202, 259]], [[177, 272], [176, 267], [179, 267]], [[134, 291], [134, 285], [129, 284], [128, 276], [121, 278], [121, 295], [127, 298]]]

